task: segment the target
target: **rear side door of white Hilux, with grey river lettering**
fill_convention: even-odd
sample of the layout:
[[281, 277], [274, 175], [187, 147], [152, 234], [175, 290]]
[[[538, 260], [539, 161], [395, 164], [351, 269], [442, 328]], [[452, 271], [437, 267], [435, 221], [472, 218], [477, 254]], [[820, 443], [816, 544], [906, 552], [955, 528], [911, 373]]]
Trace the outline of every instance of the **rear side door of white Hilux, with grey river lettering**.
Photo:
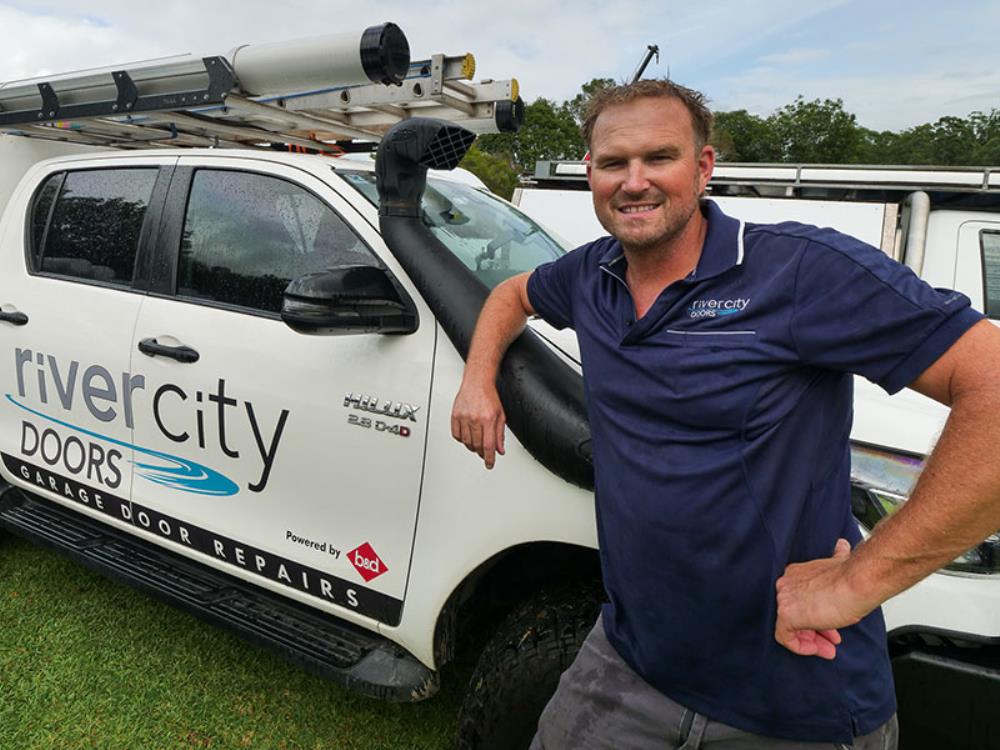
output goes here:
[[144, 387], [130, 363], [135, 269], [165, 194], [163, 162], [53, 167], [14, 196], [0, 237], [4, 476], [125, 528]]

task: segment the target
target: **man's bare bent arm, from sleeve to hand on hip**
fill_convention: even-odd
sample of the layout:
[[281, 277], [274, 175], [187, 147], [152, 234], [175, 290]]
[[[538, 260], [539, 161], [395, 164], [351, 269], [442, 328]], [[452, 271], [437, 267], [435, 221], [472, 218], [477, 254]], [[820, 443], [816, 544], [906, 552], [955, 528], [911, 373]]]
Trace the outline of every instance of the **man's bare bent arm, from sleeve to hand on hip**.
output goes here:
[[832, 557], [785, 569], [777, 583], [779, 643], [832, 658], [839, 635], [829, 629], [856, 623], [1000, 528], [997, 373], [1000, 330], [981, 321], [913, 383], [952, 409], [917, 486], [853, 552], [842, 541]]

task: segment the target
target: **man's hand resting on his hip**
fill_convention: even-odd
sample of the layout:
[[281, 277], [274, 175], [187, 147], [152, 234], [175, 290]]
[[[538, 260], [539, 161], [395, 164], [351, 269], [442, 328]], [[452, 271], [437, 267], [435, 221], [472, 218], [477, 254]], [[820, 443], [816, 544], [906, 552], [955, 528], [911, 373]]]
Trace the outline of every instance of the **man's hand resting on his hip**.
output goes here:
[[774, 638], [793, 654], [834, 658], [837, 628], [853, 625], [874, 609], [858, 601], [847, 585], [850, 556], [850, 542], [838, 539], [833, 557], [789, 565], [778, 579]]

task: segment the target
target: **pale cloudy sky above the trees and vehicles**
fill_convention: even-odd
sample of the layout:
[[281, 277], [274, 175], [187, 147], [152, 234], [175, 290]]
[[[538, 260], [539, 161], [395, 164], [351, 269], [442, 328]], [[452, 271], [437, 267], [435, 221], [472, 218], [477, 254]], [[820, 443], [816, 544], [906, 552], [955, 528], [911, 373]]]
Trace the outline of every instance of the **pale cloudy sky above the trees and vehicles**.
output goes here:
[[527, 101], [627, 78], [658, 44], [647, 75], [669, 71], [720, 110], [839, 97], [860, 124], [899, 130], [1000, 108], [996, 0], [0, 0], [0, 81], [383, 21], [403, 29], [413, 59], [472, 52], [477, 79], [517, 78]]

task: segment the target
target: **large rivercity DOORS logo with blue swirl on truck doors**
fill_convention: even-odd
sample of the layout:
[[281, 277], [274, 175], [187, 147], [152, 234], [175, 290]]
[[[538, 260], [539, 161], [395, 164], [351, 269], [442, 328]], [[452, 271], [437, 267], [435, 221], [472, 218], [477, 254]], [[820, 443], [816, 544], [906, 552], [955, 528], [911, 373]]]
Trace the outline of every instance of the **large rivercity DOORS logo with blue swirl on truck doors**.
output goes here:
[[[135, 423], [133, 394], [146, 389], [144, 375], [123, 372], [120, 379], [116, 379], [107, 368], [99, 364], [87, 366], [81, 374], [81, 365], [76, 360], [68, 364], [61, 363], [51, 354], [20, 348], [14, 350], [14, 369], [17, 376], [17, 397], [8, 393], [6, 400], [30, 415], [24, 416], [21, 421], [20, 449], [25, 458], [41, 459], [46, 466], [64, 469], [77, 479], [96, 481], [104, 487], [115, 489], [122, 481], [123, 454], [119, 448], [125, 448], [134, 450], [138, 456], [143, 457], [140, 459], [137, 456], [133, 462], [136, 474], [154, 484], [199, 495], [228, 496], [239, 492], [239, 486], [232, 479], [204, 464], [119, 440], [50, 413], [52, 409], [61, 406], [71, 415], [74, 409], [79, 411], [82, 402], [95, 419], [108, 423], [120, 419], [131, 430]], [[34, 378], [31, 377], [32, 374]], [[206, 430], [206, 408], [201, 406], [205, 398], [216, 407], [211, 409], [215, 411], [216, 419], [214, 423], [209, 423], [214, 428], [212, 437], [218, 439], [219, 448], [226, 456], [231, 459], [240, 458], [240, 450], [230, 445], [226, 432], [227, 419], [233, 416], [229, 410], [238, 407], [240, 402], [226, 394], [226, 381], [222, 378], [219, 378], [215, 389], [207, 392], [207, 395], [200, 390], [196, 391], [193, 403], [189, 394], [180, 386], [173, 383], [159, 386], [151, 402], [152, 419], [167, 439], [175, 443], [197, 442], [198, 447], [204, 450], [206, 438], [210, 434]], [[25, 403], [29, 399], [39, 408]], [[183, 414], [184, 407], [191, 412], [186, 420], [190, 430], [182, 426], [183, 417], [178, 419], [175, 416], [179, 410]], [[238, 409], [234, 411], [239, 413]], [[165, 412], [176, 423], [168, 424], [164, 418]], [[257, 480], [250, 482], [247, 489], [262, 492], [274, 466], [289, 412], [288, 409], [282, 409], [276, 424], [270, 430], [269, 438], [266, 437], [267, 431], [262, 429], [250, 401], [243, 402], [243, 412], [253, 433], [261, 465]], [[102, 443], [116, 447], [107, 447]]]

